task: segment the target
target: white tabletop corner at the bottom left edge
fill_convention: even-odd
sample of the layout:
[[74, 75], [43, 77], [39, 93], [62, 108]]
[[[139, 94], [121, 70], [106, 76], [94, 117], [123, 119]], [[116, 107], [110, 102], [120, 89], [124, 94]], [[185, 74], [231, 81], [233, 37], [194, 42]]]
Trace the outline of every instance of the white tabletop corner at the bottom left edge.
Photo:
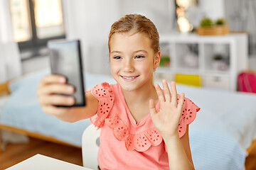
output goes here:
[[58, 159], [46, 157], [42, 154], [36, 154], [23, 162], [20, 162], [14, 166], [9, 167], [6, 170], [92, 170], [68, 162], [63, 162]]

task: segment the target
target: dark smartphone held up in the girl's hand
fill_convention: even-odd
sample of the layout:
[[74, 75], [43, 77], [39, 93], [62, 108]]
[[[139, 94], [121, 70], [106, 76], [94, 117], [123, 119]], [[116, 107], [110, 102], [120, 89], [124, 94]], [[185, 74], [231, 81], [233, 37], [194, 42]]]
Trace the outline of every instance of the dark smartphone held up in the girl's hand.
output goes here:
[[75, 104], [73, 106], [58, 107], [78, 107], [85, 106], [85, 86], [82, 68], [82, 53], [80, 40], [50, 40], [48, 41], [50, 51], [50, 69], [52, 74], [59, 74], [67, 79], [67, 84], [75, 87], [73, 96]]

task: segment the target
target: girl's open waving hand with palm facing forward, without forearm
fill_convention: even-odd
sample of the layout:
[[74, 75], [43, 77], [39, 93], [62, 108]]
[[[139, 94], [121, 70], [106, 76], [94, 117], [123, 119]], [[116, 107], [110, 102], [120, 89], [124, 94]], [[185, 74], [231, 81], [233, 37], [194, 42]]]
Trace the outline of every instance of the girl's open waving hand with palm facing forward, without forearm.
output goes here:
[[159, 111], [156, 112], [155, 101], [150, 99], [149, 111], [154, 127], [159, 130], [161, 136], [173, 137], [178, 134], [178, 123], [181, 118], [181, 111], [185, 95], [181, 94], [177, 102], [176, 84], [171, 82], [171, 91], [166, 80], [162, 81], [164, 91], [159, 84], [155, 85], [159, 98]]

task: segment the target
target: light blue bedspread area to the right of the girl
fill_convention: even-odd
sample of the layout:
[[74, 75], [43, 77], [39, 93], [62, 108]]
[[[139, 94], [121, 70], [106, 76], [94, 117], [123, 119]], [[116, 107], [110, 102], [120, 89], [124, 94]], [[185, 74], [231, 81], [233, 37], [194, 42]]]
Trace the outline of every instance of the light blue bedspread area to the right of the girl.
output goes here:
[[246, 149], [256, 139], [256, 95], [178, 86], [201, 107], [189, 126], [196, 169], [244, 169]]

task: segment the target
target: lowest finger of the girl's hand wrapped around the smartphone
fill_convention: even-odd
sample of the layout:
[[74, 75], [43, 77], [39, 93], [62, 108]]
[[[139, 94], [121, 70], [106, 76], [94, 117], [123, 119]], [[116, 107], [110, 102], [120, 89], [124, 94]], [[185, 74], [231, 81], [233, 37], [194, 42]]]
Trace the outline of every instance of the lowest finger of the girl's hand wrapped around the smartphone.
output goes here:
[[39, 103], [41, 103], [43, 106], [72, 106], [75, 103], [75, 98], [73, 96], [63, 96], [58, 94], [44, 95], [39, 98]]

